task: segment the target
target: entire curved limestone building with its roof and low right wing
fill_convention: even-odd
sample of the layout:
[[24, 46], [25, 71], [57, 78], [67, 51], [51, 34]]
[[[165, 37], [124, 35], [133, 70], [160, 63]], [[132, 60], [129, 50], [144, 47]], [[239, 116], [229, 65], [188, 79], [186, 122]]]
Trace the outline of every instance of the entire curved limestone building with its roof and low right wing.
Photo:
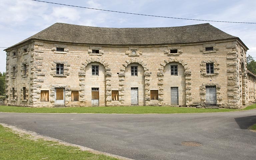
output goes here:
[[247, 50], [238, 37], [210, 24], [56, 23], [5, 49], [6, 104], [240, 108], [255, 101]]

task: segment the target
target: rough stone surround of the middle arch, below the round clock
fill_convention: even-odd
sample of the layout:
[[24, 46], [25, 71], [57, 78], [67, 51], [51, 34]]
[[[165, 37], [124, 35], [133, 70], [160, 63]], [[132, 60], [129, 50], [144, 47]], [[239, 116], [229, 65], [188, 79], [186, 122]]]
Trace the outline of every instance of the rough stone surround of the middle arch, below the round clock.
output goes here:
[[147, 64], [143, 62], [142, 59], [138, 58], [131, 58], [130, 60], [126, 60], [125, 63], [123, 63], [123, 66], [120, 68], [119, 76], [119, 101], [121, 103], [121, 106], [131, 105], [131, 104], [125, 104], [125, 69], [128, 65], [131, 63], [137, 63], [140, 64], [144, 69], [144, 85], [145, 85], [145, 100], [144, 104], [145, 106], [149, 105], [150, 102], [150, 89], [149, 89], [149, 81], [150, 81], [150, 72], [149, 69], [146, 67]]

